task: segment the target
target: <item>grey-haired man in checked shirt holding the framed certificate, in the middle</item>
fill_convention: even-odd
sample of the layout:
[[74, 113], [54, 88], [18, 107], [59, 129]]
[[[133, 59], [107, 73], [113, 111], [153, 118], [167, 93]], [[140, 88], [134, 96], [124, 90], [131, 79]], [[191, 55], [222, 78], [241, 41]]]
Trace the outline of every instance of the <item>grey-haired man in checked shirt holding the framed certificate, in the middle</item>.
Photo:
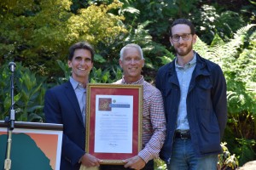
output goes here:
[[160, 91], [144, 81], [141, 75], [143, 50], [137, 44], [128, 44], [120, 51], [119, 65], [123, 78], [115, 84], [143, 84], [143, 150], [137, 156], [124, 160], [125, 165], [101, 165], [101, 170], [154, 170], [154, 158], [159, 156], [166, 139], [166, 117]]

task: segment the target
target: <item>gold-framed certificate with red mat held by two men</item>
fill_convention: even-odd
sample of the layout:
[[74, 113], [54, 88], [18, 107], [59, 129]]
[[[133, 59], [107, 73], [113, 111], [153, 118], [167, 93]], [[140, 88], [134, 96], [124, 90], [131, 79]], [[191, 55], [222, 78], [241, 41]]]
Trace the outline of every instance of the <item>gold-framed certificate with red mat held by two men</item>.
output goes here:
[[142, 149], [143, 86], [87, 86], [87, 153], [102, 164], [124, 164]]

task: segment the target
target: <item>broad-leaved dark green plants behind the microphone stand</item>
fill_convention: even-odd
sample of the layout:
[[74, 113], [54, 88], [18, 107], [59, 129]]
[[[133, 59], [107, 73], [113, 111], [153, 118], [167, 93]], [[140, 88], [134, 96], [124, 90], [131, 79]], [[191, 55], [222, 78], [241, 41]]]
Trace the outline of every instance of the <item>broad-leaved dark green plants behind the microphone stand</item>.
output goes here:
[[[14, 91], [14, 108], [16, 111], [15, 120], [21, 122], [43, 122], [44, 114], [44, 93], [45, 78], [36, 77], [29, 69], [22, 67], [20, 63], [16, 63], [15, 69], [15, 91]], [[10, 96], [10, 77], [8, 65], [1, 67], [1, 94], [0, 94], [0, 117], [3, 120], [9, 116], [11, 107]]]

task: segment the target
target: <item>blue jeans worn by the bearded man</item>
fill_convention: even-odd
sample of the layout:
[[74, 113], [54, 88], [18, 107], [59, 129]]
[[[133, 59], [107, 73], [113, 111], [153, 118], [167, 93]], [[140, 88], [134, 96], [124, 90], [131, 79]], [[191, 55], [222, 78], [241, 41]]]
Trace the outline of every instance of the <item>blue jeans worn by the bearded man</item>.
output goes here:
[[191, 139], [174, 139], [168, 170], [217, 170], [218, 155], [195, 156]]

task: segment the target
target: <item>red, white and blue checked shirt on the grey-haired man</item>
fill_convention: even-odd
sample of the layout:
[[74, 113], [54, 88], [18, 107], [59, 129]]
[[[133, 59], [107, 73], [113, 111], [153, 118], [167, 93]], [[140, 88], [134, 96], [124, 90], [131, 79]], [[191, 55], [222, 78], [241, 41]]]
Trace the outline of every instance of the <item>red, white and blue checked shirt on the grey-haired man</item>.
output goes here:
[[144, 81], [142, 76], [137, 82], [126, 83], [124, 77], [114, 84], [143, 84], [143, 150], [138, 156], [147, 163], [158, 158], [166, 139], [166, 116], [160, 91]]

